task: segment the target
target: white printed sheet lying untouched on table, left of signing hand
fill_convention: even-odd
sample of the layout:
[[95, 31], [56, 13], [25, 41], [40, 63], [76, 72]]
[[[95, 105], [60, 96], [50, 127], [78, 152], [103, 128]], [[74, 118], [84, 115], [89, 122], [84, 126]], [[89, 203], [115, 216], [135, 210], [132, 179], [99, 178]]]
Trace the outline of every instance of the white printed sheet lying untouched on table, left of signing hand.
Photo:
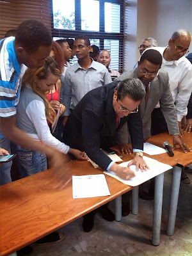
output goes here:
[[104, 174], [72, 176], [73, 198], [109, 196]]

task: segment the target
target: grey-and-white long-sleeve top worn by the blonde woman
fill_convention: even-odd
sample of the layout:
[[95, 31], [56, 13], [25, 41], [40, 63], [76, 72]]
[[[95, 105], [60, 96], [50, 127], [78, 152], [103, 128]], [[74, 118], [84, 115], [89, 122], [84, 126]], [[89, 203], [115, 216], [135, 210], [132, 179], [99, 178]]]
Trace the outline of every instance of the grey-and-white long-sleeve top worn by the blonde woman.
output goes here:
[[17, 107], [17, 126], [25, 131], [31, 138], [40, 140], [45, 144], [67, 154], [70, 147], [52, 136], [45, 116], [44, 100], [26, 86], [20, 93]]

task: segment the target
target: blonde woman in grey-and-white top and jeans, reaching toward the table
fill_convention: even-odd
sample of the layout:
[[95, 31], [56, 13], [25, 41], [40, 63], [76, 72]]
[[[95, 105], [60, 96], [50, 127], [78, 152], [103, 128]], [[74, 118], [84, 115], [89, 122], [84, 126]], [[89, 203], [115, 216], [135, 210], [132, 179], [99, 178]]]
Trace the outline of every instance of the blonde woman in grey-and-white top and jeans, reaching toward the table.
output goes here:
[[[28, 68], [22, 79], [22, 92], [17, 107], [17, 126], [35, 140], [40, 140], [60, 152], [86, 159], [86, 154], [70, 148], [52, 136], [47, 120], [54, 121], [56, 112], [47, 93], [60, 78], [60, 69], [53, 58], [48, 57], [40, 68]], [[47, 158], [43, 152], [14, 145], [19, 163], [20, 177], [26, 177], [47, 170]]]

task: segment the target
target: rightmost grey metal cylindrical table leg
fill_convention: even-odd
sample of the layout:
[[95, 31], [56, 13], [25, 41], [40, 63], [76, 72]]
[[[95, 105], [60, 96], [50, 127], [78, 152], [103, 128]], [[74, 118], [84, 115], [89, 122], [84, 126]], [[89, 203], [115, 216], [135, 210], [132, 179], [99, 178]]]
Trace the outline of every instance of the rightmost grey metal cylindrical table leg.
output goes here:
[[166, 229], [166, 234], [168, 236], [173, 236], [173, 233], [174, 233], [175, 219], [177, 214], [177, 203], [179, 198], [180, 175], [181, 175], [182, 167], [183, 166], [180, 164], [177, 164], [176, 166], [173, 167], [170, 209], [169, 209], [168, 224]]

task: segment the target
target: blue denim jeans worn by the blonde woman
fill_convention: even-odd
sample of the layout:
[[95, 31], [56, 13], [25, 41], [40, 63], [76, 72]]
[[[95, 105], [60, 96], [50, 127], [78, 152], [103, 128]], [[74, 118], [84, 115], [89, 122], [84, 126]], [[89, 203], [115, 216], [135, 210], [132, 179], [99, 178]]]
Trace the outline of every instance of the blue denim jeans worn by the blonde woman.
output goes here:
[[19, 167], [20, 178], [28, 177], [47, 170], [47, 157], [40, 151], [22, 148], [12, 144], [12, 152], [17, 154], [16, 161]]

